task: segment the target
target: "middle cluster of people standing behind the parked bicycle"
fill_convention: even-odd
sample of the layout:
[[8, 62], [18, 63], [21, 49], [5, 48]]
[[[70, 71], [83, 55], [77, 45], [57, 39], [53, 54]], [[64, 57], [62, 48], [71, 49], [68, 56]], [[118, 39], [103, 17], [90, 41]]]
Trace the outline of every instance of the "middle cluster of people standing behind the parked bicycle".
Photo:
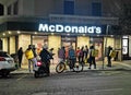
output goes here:
[[73, 46], [70, 46], [68, 48], [68, 51], [64, 49], [64, 47], [61, 47], [58, 50], [58, 58], [60, 61], [68, 59], [70, 61], [69, 62], [70, 69], [73, 68], [76, 60], [79, 63], [83, 64], [84, 62], [88, 62], [90, 63], [88, 69], [91, 69], [92, 64], [94, 64], [94, 68], [96, 69], [95, 56], [93, 56], [94, 50], [95, 50], [94, 46], [91, 46], [90, 48], [85, 46], [82, 47], [81, 49], [80, 47], [78, 47], [76, 50], [73, 49]]

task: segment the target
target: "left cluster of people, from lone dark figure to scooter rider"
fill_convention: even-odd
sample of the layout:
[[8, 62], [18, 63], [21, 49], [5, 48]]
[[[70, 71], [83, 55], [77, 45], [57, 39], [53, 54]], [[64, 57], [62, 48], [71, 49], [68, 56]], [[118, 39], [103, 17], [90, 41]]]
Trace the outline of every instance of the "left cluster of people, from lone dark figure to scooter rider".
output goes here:
[[[40, 57], [40, 60], [45, 63], [45, 71], [46, 74], [49, 76], [50, 75], [50, 70], [49, 70], [49, 66], [50, 66], [50, 59], [53, 59], [52, 56], [55, 54], [52, 54], [53, 48], [51, 48], [49, 51], [47, 50], [48, 47], [44, 46], [43, 49], [40, 50], [39, 54], [36, 54], [36, 48], [33, 45], [28, 45], [28, 48], [25, 50], [25, 57], [28, 60], [28, 70], [29, 72], [32, 72], [32, 67], [33, 67], [33, 71], [35, 70], [35, 64], [37, 63], [37, 57]], [[23, 48], [20, 47], [20, 49], [17, 50], [17, 58], [19, 58], [19, 68], [21, 68], [22, 64], [22, 58], [23, 58]]]

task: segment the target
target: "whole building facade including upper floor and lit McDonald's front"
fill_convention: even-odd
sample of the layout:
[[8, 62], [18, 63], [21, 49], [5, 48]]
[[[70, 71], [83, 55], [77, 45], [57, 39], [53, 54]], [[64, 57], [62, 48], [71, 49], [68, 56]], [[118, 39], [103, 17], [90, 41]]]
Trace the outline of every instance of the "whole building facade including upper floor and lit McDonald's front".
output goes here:
[[[122, 36], [112, 28], [118, 25], [118, 17], [112, 17], [108, 2], [112, 0], [4, 1], [4, 15], [0, 16], [1, 49], [15, 54], [20, 47], [25, 51], [28, 45], [34, 45], [39, 51], [46, 44], [49, 49], [55, 48], [57, 62], [61, 46], [68, 49], [72, 45], [76, 49], [95, 45], [99, 50], [97, 60], [111, 46], [121, 60]], [[26, 63], [25, 57], [23, 60]]]

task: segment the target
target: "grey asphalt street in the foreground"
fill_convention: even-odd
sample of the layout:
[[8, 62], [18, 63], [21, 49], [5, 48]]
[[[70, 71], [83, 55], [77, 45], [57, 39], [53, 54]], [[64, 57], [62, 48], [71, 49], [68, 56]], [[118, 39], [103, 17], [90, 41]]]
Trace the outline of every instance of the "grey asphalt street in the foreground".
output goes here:
[[53, 73], [35, 79], [31, 74], [0, 78], [0, 95], [131, 95], [131, 71]]

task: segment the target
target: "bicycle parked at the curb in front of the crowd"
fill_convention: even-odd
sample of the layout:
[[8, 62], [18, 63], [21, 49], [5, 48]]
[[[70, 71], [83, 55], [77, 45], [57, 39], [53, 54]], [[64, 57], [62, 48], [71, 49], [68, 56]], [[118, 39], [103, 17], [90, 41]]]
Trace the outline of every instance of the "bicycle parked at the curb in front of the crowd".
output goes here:
[[[71, 61], [69, 59], [67, 59], [66, 61], [61, 60], [56, 67], [56, 72], [61, 73], [64, 70], [67, 70], [67, 64], [70, 66], [70, 62]], [[83, 71], [83, 67], [84, 66], [82, 63], [75, 62], [74, 66], [73, 66], [73, 71], [74, 72], [81, 72], [81, 71]]]

